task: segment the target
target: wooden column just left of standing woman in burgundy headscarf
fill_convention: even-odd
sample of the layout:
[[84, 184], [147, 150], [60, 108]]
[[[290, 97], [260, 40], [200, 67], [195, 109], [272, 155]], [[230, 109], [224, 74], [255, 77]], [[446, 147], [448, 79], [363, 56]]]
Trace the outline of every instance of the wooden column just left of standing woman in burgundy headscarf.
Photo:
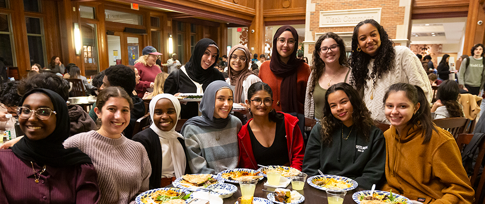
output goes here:
[[[250, 35], [249, 35], [249, 43], [248, 48], [251, 50], [251, 53], [257, 53], [258, 59], [259, 55], [264, 54], [264, 35], [265, 35], [265, 28], [264, 28], [264, 18], [263, 18], [263, 0], [254, 0], [255, 7], [256, 7], [256, 15], [251, 22], [251, 26], [249, 27]], [[254, 30], [254, 33], [251, 31]], [[251, 48], [254, 47], [254, 50]], [[253, 56], [251, 56], [251, 59]]]

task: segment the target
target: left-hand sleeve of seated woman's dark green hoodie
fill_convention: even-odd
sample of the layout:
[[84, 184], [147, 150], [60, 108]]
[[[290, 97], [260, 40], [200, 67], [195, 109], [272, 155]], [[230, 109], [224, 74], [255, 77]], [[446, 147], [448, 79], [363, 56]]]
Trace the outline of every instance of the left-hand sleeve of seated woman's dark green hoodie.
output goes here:
[[303, 172], [309, 176], [318, 175], [317, 169], [320, 169], [320, 149], [322, 125], [317, 123], [310, 132], [308, 142], [306, 143], [305, 157], [303, 158]]

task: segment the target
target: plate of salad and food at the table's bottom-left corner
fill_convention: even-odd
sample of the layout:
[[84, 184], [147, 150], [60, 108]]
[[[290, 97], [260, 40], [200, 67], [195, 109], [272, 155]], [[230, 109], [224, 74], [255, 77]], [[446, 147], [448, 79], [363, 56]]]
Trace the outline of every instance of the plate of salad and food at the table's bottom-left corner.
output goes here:
[[137, 204], [184, 204], [190, 202], [190, 192], [179, 188], [157, 188], [136, 196]]

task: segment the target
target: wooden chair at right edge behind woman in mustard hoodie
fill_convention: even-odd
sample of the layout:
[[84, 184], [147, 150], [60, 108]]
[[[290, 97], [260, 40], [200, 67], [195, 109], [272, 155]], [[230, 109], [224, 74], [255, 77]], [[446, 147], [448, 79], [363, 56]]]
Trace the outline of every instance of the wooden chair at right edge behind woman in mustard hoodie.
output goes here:
[[[473, 138], [473, 134], [459, 134], [458, 137], [456, 138], [456, 144], [458, 145], [458, 148], [460, 152], [463, 150], [465, 145], [468, 145], [470, 141]], [[473, 174], [470, 177], [470, 183], [472, 184], [472, 187], [475, 185], [476, 178], [478, 176], [478, 170], [481, 167], [481, 163], [483, 161], [483, 155], [485, 155], [485, 140], [482, 140], [480, 144], [478, 144], [478, 156], [477, 160], [475, 162], [475, 166], [473, 167]], [[472, 161], [470, 161], [472, 162]], [[465, 166], [469, 166], [470, 163], [465, 164]], [[478, 182], [478, 188], [475, 191], [475, 201], [473, 204], [478, 204], [480, 195], [483, 189], [483, 183], [485, 183], [485, 176], [482, 174], [480, 177], [480, 181]]]

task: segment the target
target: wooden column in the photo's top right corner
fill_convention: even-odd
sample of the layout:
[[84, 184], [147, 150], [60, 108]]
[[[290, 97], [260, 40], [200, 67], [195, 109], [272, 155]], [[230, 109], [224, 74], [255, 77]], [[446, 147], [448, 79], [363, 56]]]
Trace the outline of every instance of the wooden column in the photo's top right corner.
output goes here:
[[[477, 43], [484, 42], [485, 33], [485, 11], [483, 10], [484, 0], [470, 0], [468, 7], [467, 29], [465, 43], [463, 46], [464, 55], [473, 55], [470, 49]], [[482, 24], [477, 22], [481, 20]]]

